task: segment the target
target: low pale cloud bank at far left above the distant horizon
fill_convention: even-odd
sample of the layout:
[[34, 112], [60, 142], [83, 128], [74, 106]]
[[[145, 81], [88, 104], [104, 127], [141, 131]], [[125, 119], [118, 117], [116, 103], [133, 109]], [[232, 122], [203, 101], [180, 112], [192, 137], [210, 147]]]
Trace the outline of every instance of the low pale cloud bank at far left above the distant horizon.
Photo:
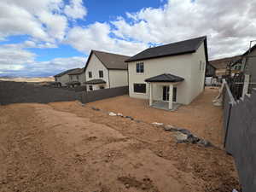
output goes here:
[[36, 56], [21, 46], [0, 46], [0, 71], [15, 76], [49, 76], [70, 68], [84, 67], [86, 61], [85, 57], [79, 56], [36, 61]]

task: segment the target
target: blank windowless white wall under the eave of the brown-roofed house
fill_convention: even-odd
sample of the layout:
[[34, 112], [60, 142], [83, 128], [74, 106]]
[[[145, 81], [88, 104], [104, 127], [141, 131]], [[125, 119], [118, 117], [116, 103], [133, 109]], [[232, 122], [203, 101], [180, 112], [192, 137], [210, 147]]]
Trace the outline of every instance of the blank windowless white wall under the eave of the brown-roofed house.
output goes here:
[[127, 70], [109, 70], [110, 88], [128, 86]]

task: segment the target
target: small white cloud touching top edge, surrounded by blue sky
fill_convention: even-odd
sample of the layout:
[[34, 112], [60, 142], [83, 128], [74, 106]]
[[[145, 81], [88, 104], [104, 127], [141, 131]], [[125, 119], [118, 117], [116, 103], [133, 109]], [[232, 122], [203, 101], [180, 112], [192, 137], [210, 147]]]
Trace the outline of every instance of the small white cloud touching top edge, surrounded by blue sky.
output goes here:
[[70, 0], [65, 6], [64, 13], [72, 19], [83, 19], [87, 15], [87, 9], [83, 6], [82, 0]]

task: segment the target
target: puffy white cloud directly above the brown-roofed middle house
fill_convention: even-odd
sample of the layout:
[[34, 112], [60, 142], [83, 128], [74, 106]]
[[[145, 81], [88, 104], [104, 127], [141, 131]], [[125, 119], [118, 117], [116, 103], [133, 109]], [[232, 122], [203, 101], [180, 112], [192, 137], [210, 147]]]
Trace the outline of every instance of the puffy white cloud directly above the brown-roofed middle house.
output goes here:
[[67, 44], [81, 52], [89, 53], [90, 49], [100, 49], [124, 55], [133, 55], [147, 48], [147, 44], [111, 38], [111, 28], [107, 23], [96, 22], [86, 28], [74, 27], [67, 33]]

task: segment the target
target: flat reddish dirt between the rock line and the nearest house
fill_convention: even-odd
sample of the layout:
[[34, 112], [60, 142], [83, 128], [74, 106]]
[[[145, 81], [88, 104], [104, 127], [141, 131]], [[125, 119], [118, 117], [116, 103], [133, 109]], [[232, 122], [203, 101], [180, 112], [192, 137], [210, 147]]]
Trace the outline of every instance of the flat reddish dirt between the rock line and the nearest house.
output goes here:
[[223, 146], [223, 110], [212, 105], [212, 100], [217, 95], [218, 88], [206, 87], [206, 90], [192, 103], [178, 108], [175, 112], [149, 108], [148, 100], [135, 99], [129, 96], [118, 96], [90, 102], [88, 106], [102, 108], [114, 113], [123, 113], [148, 123], [160, 122], [189, 129], [195, 135], [221, 147]]

